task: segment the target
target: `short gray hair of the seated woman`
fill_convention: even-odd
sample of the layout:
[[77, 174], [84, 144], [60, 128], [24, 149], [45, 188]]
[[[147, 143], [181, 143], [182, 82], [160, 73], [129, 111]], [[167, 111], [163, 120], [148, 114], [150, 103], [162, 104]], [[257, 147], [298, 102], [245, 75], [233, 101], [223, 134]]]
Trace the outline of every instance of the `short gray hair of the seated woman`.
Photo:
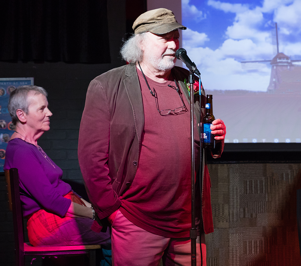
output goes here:
[[8, 112], [11, 115], [11, 122], [14, 125], [16, 125], [17, 122], [19, 121], [17, 116], [18, 109], [21, 109], [26, 114], [28, 114], [28, 107], [30, 105], [28, 101], [28, 94], [30, 92], [33, 92], [34, 95], [41, 93], [45, 97], [47, 97], [48, 95], [48, 93], [44, 88], [38, 86], [25, 85], [25, 86], [17, 87], [17, 89], [13, 90], [9, 97]]

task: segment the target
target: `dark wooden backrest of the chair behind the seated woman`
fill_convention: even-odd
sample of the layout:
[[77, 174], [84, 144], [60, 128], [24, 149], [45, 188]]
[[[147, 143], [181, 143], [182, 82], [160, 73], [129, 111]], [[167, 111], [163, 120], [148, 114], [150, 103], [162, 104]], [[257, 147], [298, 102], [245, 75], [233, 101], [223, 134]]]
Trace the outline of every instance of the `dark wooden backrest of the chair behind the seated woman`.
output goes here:
[[11, 194], [11, 204], [14, 221], [14, 236], [16, 252], [24, 252], [23, 217], [20, 201], [19, 174], [17, 168], [5, 170], [5, 177], [8, 182], [8, 199]]

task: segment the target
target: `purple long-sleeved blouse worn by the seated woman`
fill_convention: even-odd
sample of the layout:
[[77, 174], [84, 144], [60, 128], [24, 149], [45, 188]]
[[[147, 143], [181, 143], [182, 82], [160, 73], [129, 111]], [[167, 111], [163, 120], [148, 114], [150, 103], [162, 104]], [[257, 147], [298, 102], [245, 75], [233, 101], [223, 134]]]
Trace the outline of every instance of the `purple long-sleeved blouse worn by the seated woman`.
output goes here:
[[[49, 159], [49, 160], [48, 160]], [[54, 168], [55, 166], [55, 168]], [[20, 138], [8, 142], [4, 170], [17, 168], [23, 216], [46, 209], [64, 216], [71, 200], [64, 195], [71, 186], [61, 180], [63, 171], [37, 147]]]

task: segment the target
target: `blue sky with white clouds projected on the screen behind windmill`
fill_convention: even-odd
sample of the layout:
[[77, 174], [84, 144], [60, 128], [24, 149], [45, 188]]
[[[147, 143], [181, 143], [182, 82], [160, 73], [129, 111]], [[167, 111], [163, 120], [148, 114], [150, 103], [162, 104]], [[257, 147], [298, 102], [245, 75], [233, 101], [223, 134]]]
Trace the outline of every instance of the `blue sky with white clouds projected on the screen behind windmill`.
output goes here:
[[270, 67], [243, 69], [240, 61], [275, 56], [275, 22], [279, 52], [301, 55], [301, 0], [182, 0], [182, 47], [205, 89], [266, 91]]

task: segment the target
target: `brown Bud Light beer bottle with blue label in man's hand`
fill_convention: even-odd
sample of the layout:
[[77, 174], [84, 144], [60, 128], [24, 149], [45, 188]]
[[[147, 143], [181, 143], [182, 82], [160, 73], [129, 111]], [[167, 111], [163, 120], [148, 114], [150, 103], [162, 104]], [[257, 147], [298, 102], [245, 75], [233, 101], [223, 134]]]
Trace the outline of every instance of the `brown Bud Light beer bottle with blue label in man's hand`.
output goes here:
[[202, 134], [201, 139], [203, 141], [203, 148], [214, 148], [215, 139], [214, 135], [211, 134], [210, 126], [212, 125], [215, 117], [213, 116], [213, 106], [212, 106], [212, 95], [207, 94], [207, 103], [206, 103], [206, 114], [202, 121]]

